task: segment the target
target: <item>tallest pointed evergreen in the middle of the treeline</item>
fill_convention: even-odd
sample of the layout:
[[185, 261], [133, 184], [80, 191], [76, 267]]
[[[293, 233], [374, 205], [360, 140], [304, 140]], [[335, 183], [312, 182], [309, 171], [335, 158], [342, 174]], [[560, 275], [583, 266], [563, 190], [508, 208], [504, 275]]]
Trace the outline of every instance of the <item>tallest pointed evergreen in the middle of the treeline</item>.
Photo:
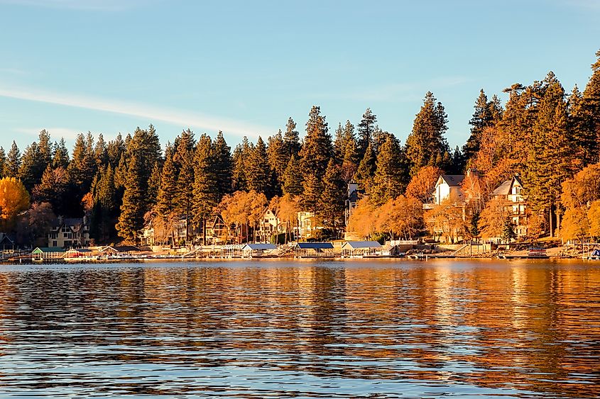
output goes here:
[[327, 133], [325, 117], [321, 115], [320, 107], [313, 106], [306, 123], [306, 137], [300, 150], [300, 167], [302, 174], [313, 174], [322, 179], [327, 169], [329, 158], [332, 157], [331, 136]]

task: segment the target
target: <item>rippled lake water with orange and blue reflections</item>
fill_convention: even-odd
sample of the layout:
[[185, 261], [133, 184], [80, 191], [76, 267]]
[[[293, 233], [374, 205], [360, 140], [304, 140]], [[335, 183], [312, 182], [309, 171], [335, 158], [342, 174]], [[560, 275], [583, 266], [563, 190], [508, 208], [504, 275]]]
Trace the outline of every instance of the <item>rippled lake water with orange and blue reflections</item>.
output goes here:
[[600, 264], [1, 266], [0, 394], [600, 395]]

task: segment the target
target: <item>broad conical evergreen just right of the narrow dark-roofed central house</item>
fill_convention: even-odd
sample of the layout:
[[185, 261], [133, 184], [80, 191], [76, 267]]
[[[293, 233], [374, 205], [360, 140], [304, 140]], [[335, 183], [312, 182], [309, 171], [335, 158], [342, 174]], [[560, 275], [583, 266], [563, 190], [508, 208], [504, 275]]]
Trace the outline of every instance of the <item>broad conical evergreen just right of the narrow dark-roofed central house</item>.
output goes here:
[[396, 137], [388, 137], [377, 156], [377, 169], [373, 184], [369, 187], [371, 203], [381, 206], [394, 199], [406, 189], [406, 177], [403, 171], [403, 154]]

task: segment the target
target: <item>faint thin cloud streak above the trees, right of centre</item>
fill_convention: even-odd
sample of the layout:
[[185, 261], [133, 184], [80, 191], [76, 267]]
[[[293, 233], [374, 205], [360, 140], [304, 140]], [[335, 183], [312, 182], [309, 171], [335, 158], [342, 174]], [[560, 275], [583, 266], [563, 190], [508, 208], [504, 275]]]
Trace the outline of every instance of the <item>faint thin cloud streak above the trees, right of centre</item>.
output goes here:
[[425, 94], [425, 92], [421, 93], [423, 88], [435, 93], [436, 89], [457, 86], [466, 82], [469, 82], [469, 79], [465, 77], [443, 77], [427, 82], [381, 84], [334, 94], [315, 94], [315, 96], [351, 101], [415, 101], [422, 99]]

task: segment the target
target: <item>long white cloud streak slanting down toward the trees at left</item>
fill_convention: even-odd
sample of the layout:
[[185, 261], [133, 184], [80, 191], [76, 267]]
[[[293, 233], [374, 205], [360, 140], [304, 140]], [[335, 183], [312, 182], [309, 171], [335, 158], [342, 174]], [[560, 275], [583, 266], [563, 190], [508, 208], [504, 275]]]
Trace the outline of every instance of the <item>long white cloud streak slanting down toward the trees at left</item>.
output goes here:
[[130, 103], [111, 99], [100, 99], [89, 96], [77, 96], [75, 94], [49, 93], [32, 89], [5, 88], [0, 87], [0, 96], [11, 99], [27, 101], [38, 101], [52, 103], [61, 106], [85, 108], [94, 111], [119, 113], [121, 115], [144, 118], [151, 123], [156, 120], [178, 125], [180, 128], [192, 128], [209, 131], [223, 130], [234, 135], [257, 137], [259, 134], [271, 133], [272, 128], [253, 125], [251, 123], [229, 120], [227, 118], [215, 118], [212, 116], [192, 113], [190, 111], [178, 111], [171, 108], [151, 106], [141, 103]]

